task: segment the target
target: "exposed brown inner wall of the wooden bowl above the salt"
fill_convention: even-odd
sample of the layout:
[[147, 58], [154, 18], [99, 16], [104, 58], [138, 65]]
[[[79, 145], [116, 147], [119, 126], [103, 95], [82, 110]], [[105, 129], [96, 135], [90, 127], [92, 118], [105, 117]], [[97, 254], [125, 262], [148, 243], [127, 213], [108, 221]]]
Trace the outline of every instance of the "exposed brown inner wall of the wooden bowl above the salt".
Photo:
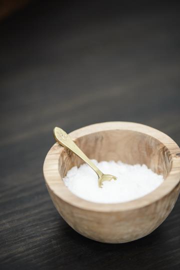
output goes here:
[[[146, 164], [164, 178], [171, 169], [172, 158], [167, 147], [156, 138], [142, 132], [104, 130], [80, 136], [75, 142], [90, 159]], [[82, 163], [83, 160], [64, 148], [59, 156], [58, 168], [61, 177], [64, 177], [71, 167]]]

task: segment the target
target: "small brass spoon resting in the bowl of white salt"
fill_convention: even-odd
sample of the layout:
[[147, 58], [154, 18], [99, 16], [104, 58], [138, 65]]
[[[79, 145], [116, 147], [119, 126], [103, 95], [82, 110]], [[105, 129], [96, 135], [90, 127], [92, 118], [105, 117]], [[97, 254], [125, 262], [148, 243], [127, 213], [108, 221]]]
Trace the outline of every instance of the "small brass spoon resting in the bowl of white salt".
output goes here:
[[69, 149], [76, 155], [78, 155], [82, 160], [84, 160], [97, 174], [98, 176], [98, 186], [102, 187], [103, 181], [116, 180], [117, 178], [110, 174], [103, 174], [94, 163], [88, 159], [88, 157], [79, 149], [75, 142], [70, 138], [70, 136], [61, 128], [54, 127], [53, 135], [55, 140], [63, 147]]

